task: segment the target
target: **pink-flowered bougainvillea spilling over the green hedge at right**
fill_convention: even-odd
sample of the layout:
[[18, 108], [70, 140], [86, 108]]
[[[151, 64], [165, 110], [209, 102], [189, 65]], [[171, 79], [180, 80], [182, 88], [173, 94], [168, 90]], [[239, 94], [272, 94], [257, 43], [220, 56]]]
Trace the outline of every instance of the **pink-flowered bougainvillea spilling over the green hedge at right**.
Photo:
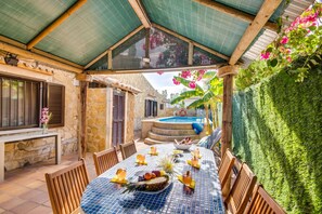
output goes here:
[[[312, 67], [321, 61], [322, 54], [322, 3], [315, 2], [282, 32], [279, 38], [262, 51], [259, 61], [254, 61], [246, 69], [241, 69], [236, 86], [245, 89], [258, 83], [280, 70], [302, 81]], [[293, 63], [306, 57], [301, 65]]]

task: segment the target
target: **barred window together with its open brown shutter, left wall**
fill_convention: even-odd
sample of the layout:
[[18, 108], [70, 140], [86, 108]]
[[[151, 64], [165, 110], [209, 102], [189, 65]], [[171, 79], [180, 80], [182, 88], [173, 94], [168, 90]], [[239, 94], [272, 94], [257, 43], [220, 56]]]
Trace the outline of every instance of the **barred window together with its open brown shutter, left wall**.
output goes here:
[[49, 107], [53, 115], [50, 126], [63, 126], [65, 88], [0, 76], [0, 130], [38, 128], [42, 107]]

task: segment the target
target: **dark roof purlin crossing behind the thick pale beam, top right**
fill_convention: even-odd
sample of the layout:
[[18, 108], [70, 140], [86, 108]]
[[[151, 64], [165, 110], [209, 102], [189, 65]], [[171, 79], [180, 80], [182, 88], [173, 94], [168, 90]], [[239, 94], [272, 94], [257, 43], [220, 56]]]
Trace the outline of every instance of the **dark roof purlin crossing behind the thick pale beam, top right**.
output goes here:
[[[250, 14], [245, 13], [243, 11], [227, 6], [227, 5], [224, 5], [222, 3], [218, 3], [216, 1], [211, 1], [211, 0], [194, 0], [194, 1], [201, 3], [201, 4], [205, 5], [205, 6], [209, 6], [211, 9], [215, 9], [216, 11], [219, 11], [219, 12], [224, 13], [227, 15], [230, 15], [232, 17], [245, 21], [247, 23], [253, 23], [255, 17], [256, 17], [254, 15], [250, 15]], [[278, 31], [279, 26], [275, 23], [267, 21], [265, 23], [265, 25], [263, 25], [263, 28], [272, 30], [272, 31]]]

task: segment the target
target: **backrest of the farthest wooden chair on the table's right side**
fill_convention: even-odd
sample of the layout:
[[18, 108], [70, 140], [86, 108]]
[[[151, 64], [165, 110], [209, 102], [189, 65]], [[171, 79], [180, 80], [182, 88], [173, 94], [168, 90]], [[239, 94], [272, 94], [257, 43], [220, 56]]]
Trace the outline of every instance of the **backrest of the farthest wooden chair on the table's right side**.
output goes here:
[[221, 188], [223, 188], [226, 182], [230, 178], [231, 170], [234, 165], [234, 162], [235, 157], [229, 149], [227, 149], [218, 170]]

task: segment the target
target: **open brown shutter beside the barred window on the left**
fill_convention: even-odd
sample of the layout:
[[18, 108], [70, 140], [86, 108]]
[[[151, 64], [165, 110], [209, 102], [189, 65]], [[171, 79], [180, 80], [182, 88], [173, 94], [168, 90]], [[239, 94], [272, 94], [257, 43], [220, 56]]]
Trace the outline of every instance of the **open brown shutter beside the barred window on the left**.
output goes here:
[[65, 86], [55, 83], [47, 83], [43, 95], [43, 107], [48, 107], [49, 111], [52, 113], [52, 118], [49, 121], [49, 126], [64, 126]]

